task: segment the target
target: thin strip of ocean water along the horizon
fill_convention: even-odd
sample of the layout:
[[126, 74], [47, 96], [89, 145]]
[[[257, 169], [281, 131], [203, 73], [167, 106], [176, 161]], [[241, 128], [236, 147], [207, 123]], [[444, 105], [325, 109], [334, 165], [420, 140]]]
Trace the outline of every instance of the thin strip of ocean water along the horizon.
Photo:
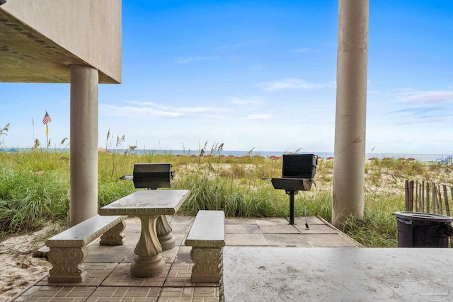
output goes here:
[[[26, 151], [31, 151], [29, 148], [18, 148], [18, 149], [0, 149], [0, 152], [26, 152]], [[42, 149], [42, 151], [45, 151], [45, 149]], [[65, 152], [68, 151], [69, 149], [49, 149], [50, 152], [52, 151], [59, 151], [59, 152]], [[134, 154], [171, 154], [171, 155], [200, 155], [200, 151], [187, 151], [187, 150], [148, 150], [148, 149], [135, 149], [134, 151], [130, 151], [128, 149], [108, 149], [109, 152], [112, 153], [134, 153]], [[227, 151], [227, 150], [222, 150], [217, 153], [213, 153], [212, 155], [224, 155], [224, 156], [263, 156], [263, 157], [269, 157], [269, 156], [282, 156], [285, 151]], [[205, 151], [205, 155], [210, 154], [210, 151]], [[333, 157], [334, 154], [333, 152], [299, 152], [299, 154], [316, 154], [317, 156], [321, 158], [328, 158], [328, 157]], [[447, 158], [449, 158], [450, 162], [452, 160], [452, 155], [450, 154], [418, 154], [418, 153], [366, 153], [365, 158], [414, 158], [417, 161], [445, 161]]]

